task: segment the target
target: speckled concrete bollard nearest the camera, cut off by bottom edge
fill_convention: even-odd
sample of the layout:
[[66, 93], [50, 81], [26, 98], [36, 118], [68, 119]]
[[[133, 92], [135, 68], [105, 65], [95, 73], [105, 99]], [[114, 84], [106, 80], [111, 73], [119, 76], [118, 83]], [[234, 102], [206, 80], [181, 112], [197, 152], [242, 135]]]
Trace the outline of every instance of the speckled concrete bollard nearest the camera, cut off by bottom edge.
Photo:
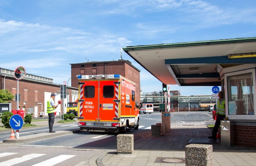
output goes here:
[[213, 166], [212, 145], [190, 144], [185, 147], [186, 166]]

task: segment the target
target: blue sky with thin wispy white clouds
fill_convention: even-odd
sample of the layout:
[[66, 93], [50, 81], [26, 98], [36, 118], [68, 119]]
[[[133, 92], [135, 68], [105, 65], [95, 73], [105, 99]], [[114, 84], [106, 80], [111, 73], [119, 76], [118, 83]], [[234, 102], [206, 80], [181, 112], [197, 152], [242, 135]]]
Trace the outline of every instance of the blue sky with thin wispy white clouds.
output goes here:
[[[62, 84], [70, 63], [118, 60], [126, 46], [255, 37], [255, 6], [255, 0], [0, 0], [0, 67], [24, 66]], [[122, 57], [141, 70], [143, 92], [162, 90]], [[212, 94], [212, 87], [170, 89]]]

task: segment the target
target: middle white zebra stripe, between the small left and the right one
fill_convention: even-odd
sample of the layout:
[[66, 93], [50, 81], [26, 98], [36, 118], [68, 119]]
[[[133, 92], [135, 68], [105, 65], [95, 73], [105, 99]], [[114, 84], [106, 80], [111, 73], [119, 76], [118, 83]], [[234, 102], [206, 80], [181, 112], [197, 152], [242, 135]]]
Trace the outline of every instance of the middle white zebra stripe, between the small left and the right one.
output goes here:
[[6, 160], [4, 162], [0, 162], [0, 166], [12, 166], [14, 164], [18, 164], [20, 162], [31, 160], [33, 158], [44, 156], [44, 155], [46, 155], [46, 154], [36, 154], [36, 153], [28, 154], [28, 155], [25, 155], [22, 157], [13, 158], [11, 160]]

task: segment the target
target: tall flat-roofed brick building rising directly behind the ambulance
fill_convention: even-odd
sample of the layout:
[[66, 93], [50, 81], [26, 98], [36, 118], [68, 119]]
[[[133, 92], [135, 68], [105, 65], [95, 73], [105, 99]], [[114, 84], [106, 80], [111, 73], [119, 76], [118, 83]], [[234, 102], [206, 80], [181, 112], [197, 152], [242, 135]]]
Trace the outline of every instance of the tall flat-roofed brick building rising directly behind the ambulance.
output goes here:
[[77, 75], [120, 74], [136, 83], [136, 101], [140, 102], [140, 70], [128, 60], [71, 64], [72, 87], [78, 88]]

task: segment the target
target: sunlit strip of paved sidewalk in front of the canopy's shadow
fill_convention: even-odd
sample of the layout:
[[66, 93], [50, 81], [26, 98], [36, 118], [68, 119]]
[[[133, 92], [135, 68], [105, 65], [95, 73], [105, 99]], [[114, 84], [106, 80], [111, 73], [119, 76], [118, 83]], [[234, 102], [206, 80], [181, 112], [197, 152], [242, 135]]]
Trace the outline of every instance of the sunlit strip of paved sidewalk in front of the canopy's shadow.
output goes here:
[[[165, 162], [166, 161], [166, 162]], [[185, 166], [184, 151], [108, 152], [97, 159], [99, 166]], [[256, 166], [256, 153], [213, 152], [214, 166]], [[91, 165], [90, 165], [91, 166]]]

